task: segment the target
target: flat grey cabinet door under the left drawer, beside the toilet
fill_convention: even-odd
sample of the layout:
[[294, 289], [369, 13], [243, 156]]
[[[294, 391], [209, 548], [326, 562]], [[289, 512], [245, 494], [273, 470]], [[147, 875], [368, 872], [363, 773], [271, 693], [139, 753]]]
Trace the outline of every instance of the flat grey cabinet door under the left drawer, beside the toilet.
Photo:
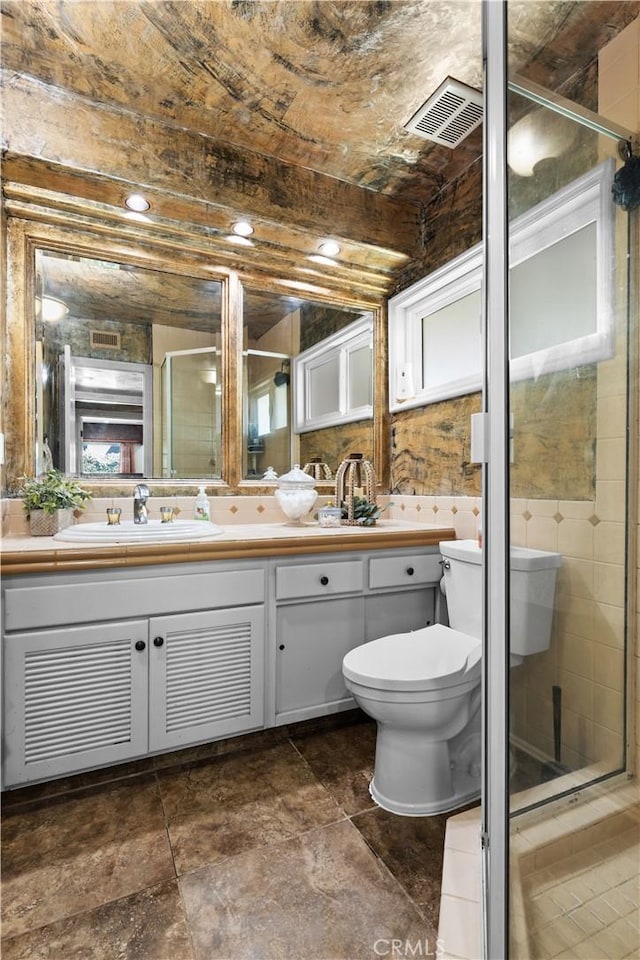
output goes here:
[[276, 722], [355, 706], [342, 660], [364, 640], [364, 598], [295, 603], [277, 616]]

